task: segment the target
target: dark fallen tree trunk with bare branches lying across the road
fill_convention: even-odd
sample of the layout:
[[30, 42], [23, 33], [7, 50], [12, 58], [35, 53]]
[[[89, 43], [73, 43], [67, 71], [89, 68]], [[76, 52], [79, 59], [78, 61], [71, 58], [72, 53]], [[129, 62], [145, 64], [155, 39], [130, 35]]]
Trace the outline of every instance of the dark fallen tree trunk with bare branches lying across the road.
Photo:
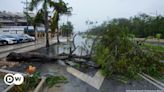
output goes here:
[[[8, 61], [16, 61], [16, 62], [40, 62], [40, 63], [55, 63], [57, 62], [57, 60], [62, 60], [65, 63], [67, 63], [68, 61], [72, 61], [76, 64], [83, 64], [89, 67], [99, 68], [97, 64], [91, 61], [91, 56], [89, 54], [79, 55], [74, 53], [79, 48], [79, 46], [75, 45], [76, 36], [77, 34], [73, 36], [72, 41], [69, 41], [68, 44], [66, 44], [69, 53], [65, 53], [63, 51], [62, 53], [57, 53], [54, 56], [48, 56], [46, 54], [41, 54], [37, 52], [23, 52], [23, 53], [11, 52], [6, 57], [6, 59]], [[56, 45], [62, 45], [62, 43]], [[60, 48], [63, 47], [60, 46]], [[90, 63], [88, 61], [90, 61]]]

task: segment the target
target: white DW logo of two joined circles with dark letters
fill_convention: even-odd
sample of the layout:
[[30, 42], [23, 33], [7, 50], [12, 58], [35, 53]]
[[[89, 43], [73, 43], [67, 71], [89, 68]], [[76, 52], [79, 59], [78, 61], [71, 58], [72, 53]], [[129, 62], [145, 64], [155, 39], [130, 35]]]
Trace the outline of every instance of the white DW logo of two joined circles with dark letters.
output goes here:
[[24, 77], [21, 74], [6, 74], [4, 82], [7, 85], [21, 85], [24, 81]]

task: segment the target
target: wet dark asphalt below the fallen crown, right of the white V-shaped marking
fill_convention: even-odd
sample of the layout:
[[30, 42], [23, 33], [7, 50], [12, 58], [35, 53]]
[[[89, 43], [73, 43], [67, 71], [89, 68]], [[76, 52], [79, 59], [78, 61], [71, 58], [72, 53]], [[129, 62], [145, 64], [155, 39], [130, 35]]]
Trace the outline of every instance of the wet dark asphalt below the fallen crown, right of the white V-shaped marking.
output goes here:
[[126, 90], [160, 90], [146, 80], [129, 81], [127, 84], [114, 79], [105, 79], [101, 86], [103, 92], [126, 92]]

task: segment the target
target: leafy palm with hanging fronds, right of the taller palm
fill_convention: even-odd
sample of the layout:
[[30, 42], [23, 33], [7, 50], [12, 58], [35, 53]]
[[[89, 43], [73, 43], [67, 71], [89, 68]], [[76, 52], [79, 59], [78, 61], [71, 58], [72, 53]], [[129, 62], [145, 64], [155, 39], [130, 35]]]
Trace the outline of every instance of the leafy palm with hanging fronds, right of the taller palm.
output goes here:
[[53, 17], [51, 19], [51, 31], [55, 31], [57, 29], [57, 42], [59, 43], [59, 20], [61, 15], [71, 15], [72, 7], [68, 7], [68, 3], [65, 3], [62, 0], [58, 2], [50, 2], [50, 7], [54, 10]]

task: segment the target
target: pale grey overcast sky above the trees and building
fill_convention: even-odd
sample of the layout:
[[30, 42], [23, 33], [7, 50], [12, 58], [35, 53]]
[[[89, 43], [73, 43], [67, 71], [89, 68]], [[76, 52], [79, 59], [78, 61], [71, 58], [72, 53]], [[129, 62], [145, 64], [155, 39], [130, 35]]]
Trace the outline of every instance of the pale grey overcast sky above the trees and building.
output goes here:
[[[0, 10], [22, 12], [25, 0], [0, 0]], [[30, 0], [28, 0], [30, 1]], [[139, 13], [164, 15], [164, 0], [64, 0], [73, 7], [73, 15], [68, 18], [75, 27], [75, 31], [84, 31], [90, 26], [86, 20], [98, 21], [112, 18], [134, 16]], [[62, 18], [62, 22], [67, 18]]]

